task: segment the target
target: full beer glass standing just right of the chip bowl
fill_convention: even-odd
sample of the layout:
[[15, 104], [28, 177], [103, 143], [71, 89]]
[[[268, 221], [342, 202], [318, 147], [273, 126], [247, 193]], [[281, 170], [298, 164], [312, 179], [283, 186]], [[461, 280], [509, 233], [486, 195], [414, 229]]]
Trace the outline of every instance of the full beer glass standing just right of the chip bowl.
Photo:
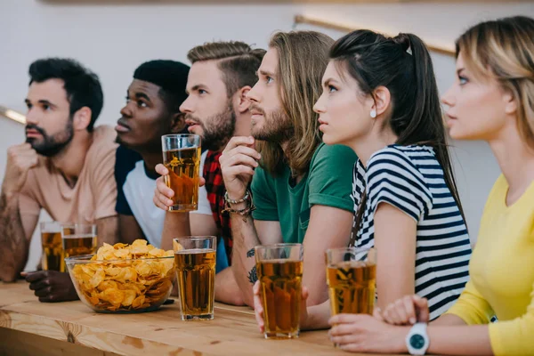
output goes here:
[[191, 236], [173, 245], [182, 320], [214, 319], [217, 238]]

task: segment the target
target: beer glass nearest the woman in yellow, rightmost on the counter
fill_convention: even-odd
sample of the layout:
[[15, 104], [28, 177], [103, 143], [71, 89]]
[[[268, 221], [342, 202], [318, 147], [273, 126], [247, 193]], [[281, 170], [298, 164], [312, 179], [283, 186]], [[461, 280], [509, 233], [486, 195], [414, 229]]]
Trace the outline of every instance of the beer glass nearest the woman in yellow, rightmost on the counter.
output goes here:
[[332, 315], [373, 314], [376, 289], [376, 249], [328, 249], [327, 283]]

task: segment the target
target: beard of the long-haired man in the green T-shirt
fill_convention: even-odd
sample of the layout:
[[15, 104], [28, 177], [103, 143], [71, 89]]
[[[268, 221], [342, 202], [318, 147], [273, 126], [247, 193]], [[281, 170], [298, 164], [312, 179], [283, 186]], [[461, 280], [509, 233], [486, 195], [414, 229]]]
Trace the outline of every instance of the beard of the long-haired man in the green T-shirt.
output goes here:
[[293, 136], [295, 132], [293, 123], [282, 109], [273, 111], [269, 115], [256, 106], [254, 109], [263, 114], [263, 127], [255, 128], [255, 125], [252, 125], [252, 135], [256, 140], [283, 143]]

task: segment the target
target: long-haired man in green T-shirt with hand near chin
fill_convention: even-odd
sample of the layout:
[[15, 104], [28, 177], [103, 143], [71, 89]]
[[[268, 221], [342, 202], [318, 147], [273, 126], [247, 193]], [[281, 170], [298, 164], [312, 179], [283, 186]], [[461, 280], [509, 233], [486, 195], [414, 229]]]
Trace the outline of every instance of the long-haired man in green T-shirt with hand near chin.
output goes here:
[[271, 37], [259, 80], [247, 93], [253, 137], [232, 138], [220, 159], [231, 212], [232, 270], [248, 305], [254, 305], [255, 246], [303, 243], [303, 285], [314, 305], [328, 299], [326, 249], [349, 243], [356, 156], [321, 143], [313, 112], [333, 43], [312, 31]]

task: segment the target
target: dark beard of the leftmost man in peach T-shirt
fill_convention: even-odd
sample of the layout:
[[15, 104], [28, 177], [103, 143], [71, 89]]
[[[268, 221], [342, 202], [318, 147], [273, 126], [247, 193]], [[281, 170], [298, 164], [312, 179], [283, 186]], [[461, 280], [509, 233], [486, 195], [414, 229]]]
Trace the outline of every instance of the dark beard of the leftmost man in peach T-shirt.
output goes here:
[[69, 117], [69, 121], [65, 126], [65, 129], [60, 133], [48, 135], [44, 128], [34, 124], [26, 125], [26, 130], [33, 129], [42, 135], [42, 139], [38, 140], [34, 137], [27, 137], [26, 142], [31, 144], [32, 149], [45, 157], [53, 157], [64, 150], [74, 137], [74, 128], [72, 126], [72, 118]]

